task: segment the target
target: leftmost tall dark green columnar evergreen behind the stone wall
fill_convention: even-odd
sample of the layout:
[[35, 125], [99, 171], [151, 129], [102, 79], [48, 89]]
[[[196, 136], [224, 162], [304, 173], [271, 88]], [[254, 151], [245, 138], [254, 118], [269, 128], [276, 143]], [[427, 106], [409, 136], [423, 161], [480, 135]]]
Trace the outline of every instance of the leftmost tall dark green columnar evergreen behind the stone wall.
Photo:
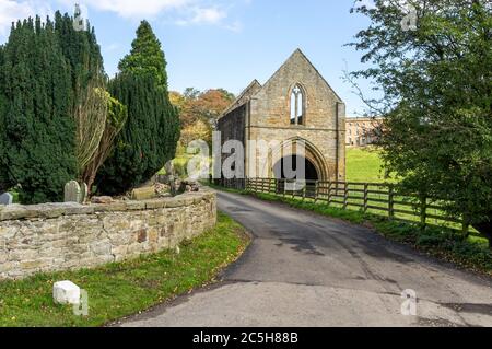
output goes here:
[[73, 93], [54, 23], [17, 22], [2, 54], [3, 152], [23, 202], [58, 201], [75, 175]]

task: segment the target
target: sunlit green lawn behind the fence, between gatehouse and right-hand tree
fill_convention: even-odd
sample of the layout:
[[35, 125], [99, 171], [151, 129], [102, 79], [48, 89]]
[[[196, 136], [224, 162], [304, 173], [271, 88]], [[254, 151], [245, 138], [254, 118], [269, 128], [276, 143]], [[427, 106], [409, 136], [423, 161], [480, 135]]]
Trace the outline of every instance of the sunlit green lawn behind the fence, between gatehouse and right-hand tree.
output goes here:
[[394, 182], [385, 179], [383, 160], [374, 148], [347, 148], [347, 181], [362, 183]]

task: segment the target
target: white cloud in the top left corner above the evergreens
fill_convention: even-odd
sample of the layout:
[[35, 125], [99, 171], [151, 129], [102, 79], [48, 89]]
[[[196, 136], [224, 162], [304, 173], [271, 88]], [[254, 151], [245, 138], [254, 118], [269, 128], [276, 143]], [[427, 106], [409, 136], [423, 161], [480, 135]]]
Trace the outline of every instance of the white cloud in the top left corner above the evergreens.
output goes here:
[[23, 20], [36, 14], [46, 16], [51, 14], [51, 8], [47, 1], [26, 0], [0, 0], [0, 36], [8, 34], [12, 22]]

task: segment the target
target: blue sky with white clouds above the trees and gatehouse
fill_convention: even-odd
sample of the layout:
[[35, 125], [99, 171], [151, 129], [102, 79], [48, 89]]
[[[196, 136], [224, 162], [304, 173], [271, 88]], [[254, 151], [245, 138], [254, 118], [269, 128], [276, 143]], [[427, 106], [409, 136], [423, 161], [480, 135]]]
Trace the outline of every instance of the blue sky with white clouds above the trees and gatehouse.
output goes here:
[[[80, 0], [95, 27], [109, 75], [129, 53], [141, 20], [148, 20], [167, 60], [169, 90], [225, 89], [242, 92], [265, 83], [301, 48], [347, 104], [349, 116], [364, 105], [344, 81], [363, 67], [362, 53], [345, 44], [368, 25], [350, 13], [354, 0]], [[0, 45], [12, 21], [56, 10], [73, 13], [71, 0], [0, 0]], [[370, 93], [370, 85], [361, 88]]]

